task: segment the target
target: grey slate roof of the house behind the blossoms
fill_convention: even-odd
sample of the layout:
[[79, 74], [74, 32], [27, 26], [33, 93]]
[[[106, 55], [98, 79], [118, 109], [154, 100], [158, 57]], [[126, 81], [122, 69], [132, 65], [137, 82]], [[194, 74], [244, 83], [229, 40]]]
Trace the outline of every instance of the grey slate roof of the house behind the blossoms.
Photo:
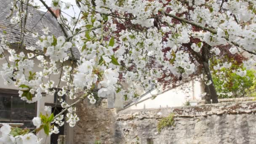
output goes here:
[[[8, 38], [7, 38], [8, 41], [19, 42], [20, 34], [21, 34], [19, 24], [13, 27], [13, 24], [11, 24], [10, 22], [10, 19], [12, 16], [9, 19], [6, 19], [11, 14], [11, 1], [12, 0], [0, 0], [0, 33], [2, 34], [3, 31], [5, 30], [8, 33]], [[44, 27], [49, 27], [49, 30], [51, 31], [49, 32], [50, 36], [51, 35], [55, 35], [56, 37], [64, 36], [56, 19], [52, 17], [50, 13], [39, 11], [33, 8], [32, 6], [29, 6], [28, 12], [30, 13], [31, 17], [27, 18], [27, 24], [26, 24], [27, 30], [31, 31], [32, 29], [32, 32], [37, 32], [38, 35], [41, 36], [41, 35], [44, 35], [42, 32], [42, 29]], [[16, 12], [13, 12], [13, 16], [16, 16]], [[24, 43], [28, 47], [34, 46], [37, 49], [41, 50], [42, 48], [40, 48], [38, 45], [35, 44], [37, 40], [38, 40], [38, 37], [33, 37], [32, 34], [29, 34], [25, 36]], [[79, 59], [80, 53], [78, 49], [72, 48], [72, 51], [74, 53], [75, 58]]]

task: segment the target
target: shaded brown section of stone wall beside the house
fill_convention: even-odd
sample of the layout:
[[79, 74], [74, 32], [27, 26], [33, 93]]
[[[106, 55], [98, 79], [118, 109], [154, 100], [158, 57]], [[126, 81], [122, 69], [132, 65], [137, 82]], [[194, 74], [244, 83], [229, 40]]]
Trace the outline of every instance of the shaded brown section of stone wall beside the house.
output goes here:
[[74, 144], [113, 144], [115, 109], [107, 108], [107, 99], [90, 104], [88, 99], [77, 104], [80, 120], [74, 127]]

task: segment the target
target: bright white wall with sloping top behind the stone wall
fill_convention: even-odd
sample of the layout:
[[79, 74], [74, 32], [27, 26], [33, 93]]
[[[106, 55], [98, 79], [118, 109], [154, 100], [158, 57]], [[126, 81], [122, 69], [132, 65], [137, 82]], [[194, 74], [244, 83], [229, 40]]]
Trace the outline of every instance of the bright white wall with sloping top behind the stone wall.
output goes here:
[[[153, 90], [138, 101], [129, 104], [125, 109], [179, 107], [183, 106], [187, 100], [201, 100], [199, 97], [201, 92], [201, 84], [199, 81], [189, 81], [188, 83], [184, 83], [157, 95], [155, 99], [152, 99], [152, 95], [156, 94], [156, 90]], [[186, 99], [186, 97], [188, 97], [188, 99]]]

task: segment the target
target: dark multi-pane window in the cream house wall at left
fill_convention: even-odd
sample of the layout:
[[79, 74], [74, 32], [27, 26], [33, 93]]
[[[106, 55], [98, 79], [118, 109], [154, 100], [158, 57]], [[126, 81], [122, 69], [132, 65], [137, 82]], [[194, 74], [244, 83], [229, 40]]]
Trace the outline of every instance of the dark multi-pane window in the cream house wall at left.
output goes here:
[[21, 100], [17, 90], [0, 89], [0, 123], [23, 123], [21, 128], [35, 128], [36, 102]]

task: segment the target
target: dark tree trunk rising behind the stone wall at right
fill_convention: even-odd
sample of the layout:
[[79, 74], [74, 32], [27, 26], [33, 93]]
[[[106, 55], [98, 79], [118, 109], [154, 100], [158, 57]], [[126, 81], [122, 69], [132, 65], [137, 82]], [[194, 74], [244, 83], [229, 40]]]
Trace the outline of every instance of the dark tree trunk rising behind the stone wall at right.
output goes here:
[[218, 95], [216, 93], [216, 89], [214, 87], [213, 84], [213, 79], [211, 77], [211, 71], [209, 68], [209, 49], [208, 49], [209, 45], [204, 45], [202, 48], [202, 64], [203, 64], [203, 69], [205, 70], [205, 75], [207, 76], [208, 80], [211, 80], [211, 84], [210, 85], [206, 85], [205, 84], [205, 92], [207, 93], [207, 95], [205, 96], [205, 104], [210, 104], [212, 99], [212, 103], [218, 103]]

